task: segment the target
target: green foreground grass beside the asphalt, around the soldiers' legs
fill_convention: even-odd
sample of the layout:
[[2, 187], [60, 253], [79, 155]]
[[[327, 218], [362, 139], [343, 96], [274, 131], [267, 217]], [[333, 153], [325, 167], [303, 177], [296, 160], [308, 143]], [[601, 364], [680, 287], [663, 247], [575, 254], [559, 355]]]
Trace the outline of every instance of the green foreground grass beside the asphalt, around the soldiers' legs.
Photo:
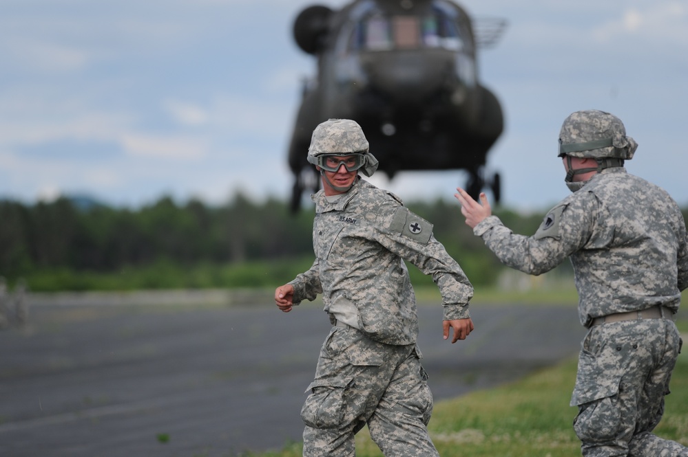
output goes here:
[[[688, 339], [688, 318], [677, 322]], [[429, 430], [443, 457], [575, 457], [580, 443], [569, 406], [576, 359], [536, 372], [521, 381], [435, 404]], [[671, 394], [656, 433], [688, 445], [688, 350], [678, 358]], [[356, 455], [380, 457], [367, 429], [356, 437]], [[300, 443], [251, 457], [298, 457]]]

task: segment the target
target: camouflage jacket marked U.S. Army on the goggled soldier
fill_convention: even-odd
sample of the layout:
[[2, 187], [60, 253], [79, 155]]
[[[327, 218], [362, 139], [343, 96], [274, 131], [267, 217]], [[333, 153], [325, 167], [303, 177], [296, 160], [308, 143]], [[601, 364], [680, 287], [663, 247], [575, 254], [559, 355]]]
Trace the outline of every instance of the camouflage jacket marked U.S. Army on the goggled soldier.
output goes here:
[[[290, 282], [294, 304], [322, 293], [324, 311], [355, 305], [353, 326], [386, 344], [414, 344], [418, 335], [415, 294], [404, 260], [439, 287], [444, 320], [469, 317], [473, 288], [459, 264], [432, 235], [432, 225], [395, 195], [358, 179], [330, 203], [315, 201], [311, 268]], [[356, 325], [357, 324], [357, 325]]]

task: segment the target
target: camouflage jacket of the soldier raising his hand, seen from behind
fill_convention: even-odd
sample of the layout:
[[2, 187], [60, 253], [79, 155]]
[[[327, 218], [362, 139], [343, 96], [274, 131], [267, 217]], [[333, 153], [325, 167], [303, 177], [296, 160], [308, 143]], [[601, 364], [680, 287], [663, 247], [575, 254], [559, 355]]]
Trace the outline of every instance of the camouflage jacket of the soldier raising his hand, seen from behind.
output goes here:
[[502, 263], [542, 274], [570, 257], [576, 274], [578, 315], [594, 317], [661, 304], [678, 310], [688, 286], [686, 227], [665, 190], [607, 168], [557, 204], [536, 234], [513, 234], [497, 216], [473, 232]]

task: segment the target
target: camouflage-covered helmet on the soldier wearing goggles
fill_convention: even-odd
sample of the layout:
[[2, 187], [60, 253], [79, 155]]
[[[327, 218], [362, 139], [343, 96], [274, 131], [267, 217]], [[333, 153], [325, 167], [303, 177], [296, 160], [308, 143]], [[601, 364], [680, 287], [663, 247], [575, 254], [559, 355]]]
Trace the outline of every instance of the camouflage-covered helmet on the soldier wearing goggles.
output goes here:
[[308, 148], [308, 159], [311, 164], [318, 155], [366, 154], [368, 140], [363, 129], [356, 121], [350, 119], [330, 119], [315, 127]]

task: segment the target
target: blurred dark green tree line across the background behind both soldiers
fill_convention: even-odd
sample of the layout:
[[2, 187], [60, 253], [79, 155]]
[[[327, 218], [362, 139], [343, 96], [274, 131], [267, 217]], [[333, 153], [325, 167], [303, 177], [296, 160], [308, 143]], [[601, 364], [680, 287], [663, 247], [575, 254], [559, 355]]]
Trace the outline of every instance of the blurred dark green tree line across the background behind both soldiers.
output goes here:
[[[435, 237], [472, 282], [489, 283], [501, 265], [473, 236], [455, 201], [414, 201], [407, 206], [428, 219]], [[496, 208], [502, 221], [532, 234], [545, 213], [518, 214]], [[0, 276], [16, 280], [36, 271], [98, 274], [176, 265], [241, 267], [247, 263], [313, 257], [312, 207], [290, 214], [278, 199], [255, 203], [238, 193], [225, 205], [170, 197], [136, 210], [61, 197], [25, 204], [0, 201]], [[301, 265], [301, 264], [299, 264]]]

